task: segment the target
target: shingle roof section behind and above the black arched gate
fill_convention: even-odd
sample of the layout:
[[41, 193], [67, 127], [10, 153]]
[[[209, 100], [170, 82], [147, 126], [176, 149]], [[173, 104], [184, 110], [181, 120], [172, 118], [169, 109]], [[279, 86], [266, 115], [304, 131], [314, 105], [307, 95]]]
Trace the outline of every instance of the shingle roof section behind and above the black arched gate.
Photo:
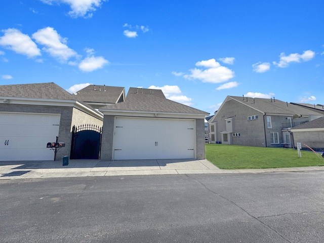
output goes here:
[[89, 85], [76, 92], [76, 99], [84, 102], [116, 103], [124, 87]]

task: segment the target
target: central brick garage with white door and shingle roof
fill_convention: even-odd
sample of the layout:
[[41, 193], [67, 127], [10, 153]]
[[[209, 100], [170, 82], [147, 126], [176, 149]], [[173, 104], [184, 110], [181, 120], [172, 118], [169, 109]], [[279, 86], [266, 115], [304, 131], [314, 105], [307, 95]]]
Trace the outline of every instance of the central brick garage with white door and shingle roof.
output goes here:
[[161, 90], [130, 88], [104, 114], [101, 159], [205, 158], [209, 113], [166, 99]]

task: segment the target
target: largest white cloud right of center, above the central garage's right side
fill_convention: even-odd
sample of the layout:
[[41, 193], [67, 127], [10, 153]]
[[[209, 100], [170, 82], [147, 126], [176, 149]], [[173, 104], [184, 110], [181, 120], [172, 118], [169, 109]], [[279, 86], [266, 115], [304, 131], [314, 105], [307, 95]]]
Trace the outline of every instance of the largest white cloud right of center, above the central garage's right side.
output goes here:
[[215, 59], [200, 61], [196, 66], [203, 66], [207, 69], [190, 69], [191, 74], [184, 74], [187, 79], [199, 79], [204, 83], [223, 83], [234, 77], [234, 72], [224, 66], [221, 66]]

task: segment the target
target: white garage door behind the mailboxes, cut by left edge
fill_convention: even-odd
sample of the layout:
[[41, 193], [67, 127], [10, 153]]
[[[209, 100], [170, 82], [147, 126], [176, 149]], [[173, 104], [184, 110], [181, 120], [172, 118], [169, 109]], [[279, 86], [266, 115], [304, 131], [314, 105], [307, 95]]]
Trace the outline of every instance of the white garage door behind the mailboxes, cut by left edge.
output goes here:
[[0, 160], [53, 160], [60, 114], [0, 112]]

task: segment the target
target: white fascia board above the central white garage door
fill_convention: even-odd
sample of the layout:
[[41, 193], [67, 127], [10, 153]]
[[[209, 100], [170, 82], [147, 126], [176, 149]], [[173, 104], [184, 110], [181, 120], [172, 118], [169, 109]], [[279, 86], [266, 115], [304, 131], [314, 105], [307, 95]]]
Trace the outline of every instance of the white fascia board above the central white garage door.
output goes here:
[[137, 111], [137, 110], [105, 110], [99, 109], [104, 115], [116, 116], [145, 116], [145, 117], [177, 117], [177, 118], [204, 118], [206, 113], [169, 113], [169, 112], [154, 112], [154, 111]]

